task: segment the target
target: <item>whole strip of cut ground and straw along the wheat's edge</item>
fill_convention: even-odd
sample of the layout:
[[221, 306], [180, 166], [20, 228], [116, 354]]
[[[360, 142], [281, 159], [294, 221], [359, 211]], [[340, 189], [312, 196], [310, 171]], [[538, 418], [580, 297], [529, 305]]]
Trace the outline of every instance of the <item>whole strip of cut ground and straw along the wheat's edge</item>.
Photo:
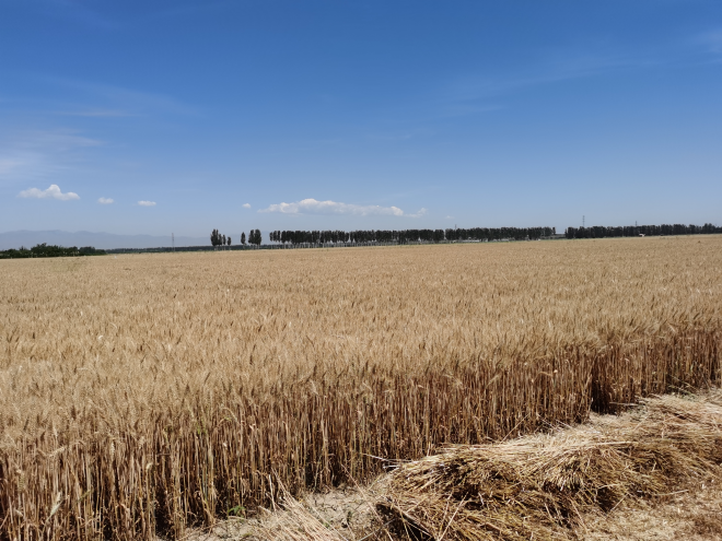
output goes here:
[[264, 541], [718, 539], [720, 480], [722, 391], [710, 389], [644, 399], [619, 415], [545, 434], [440, 449], [350, 492], [298, 501], [282, 491], [273, 513], [229, 520], [214, 533]]

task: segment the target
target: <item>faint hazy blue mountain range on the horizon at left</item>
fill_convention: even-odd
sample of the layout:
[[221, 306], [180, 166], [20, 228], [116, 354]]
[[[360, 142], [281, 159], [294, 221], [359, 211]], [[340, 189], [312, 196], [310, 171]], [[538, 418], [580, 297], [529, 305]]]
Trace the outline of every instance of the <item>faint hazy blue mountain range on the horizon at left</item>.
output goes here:
[[[233, 239], [237, 244], [237, 239]], [[0, 250], [10, 248], [32, 248], [37, 244], [58, 246], [93, 246], [102, 249], [113, 248], [162, 248], [171, 246], [171, 235], [114, 235], [112, 233], [92, 233], [90, 231], [9, 231], [0, 233]], [[176, 246], [210, 246], [209, 237], [183, 237], [176, 235]]]

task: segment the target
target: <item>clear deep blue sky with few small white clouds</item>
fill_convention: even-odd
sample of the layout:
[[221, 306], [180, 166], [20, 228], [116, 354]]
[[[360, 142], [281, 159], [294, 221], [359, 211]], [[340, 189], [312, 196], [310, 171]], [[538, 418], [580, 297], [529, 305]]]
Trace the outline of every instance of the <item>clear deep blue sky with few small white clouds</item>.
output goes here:
[[721, 120], [719, 0], [0, 0], [0, 231], [722, 224]]

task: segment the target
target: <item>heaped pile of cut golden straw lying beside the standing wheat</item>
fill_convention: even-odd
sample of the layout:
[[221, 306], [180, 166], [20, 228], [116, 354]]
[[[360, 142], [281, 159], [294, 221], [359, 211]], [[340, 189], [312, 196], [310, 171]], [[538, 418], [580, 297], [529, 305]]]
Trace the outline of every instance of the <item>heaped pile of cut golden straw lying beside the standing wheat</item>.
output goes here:
[[459, 446], [396, 469], [380, 508], [411, 538], [564, 539], [583, 516], [722, 473], [722, 392], [665, 396], [549, 435]]

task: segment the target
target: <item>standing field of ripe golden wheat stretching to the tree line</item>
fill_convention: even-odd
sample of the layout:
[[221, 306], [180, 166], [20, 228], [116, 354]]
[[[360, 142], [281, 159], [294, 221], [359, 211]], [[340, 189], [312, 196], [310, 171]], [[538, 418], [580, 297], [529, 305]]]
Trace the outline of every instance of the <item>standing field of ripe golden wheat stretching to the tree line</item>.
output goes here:
[[720, 381], [722, 237], [0, 261], [0, 539], [179, 538]]

